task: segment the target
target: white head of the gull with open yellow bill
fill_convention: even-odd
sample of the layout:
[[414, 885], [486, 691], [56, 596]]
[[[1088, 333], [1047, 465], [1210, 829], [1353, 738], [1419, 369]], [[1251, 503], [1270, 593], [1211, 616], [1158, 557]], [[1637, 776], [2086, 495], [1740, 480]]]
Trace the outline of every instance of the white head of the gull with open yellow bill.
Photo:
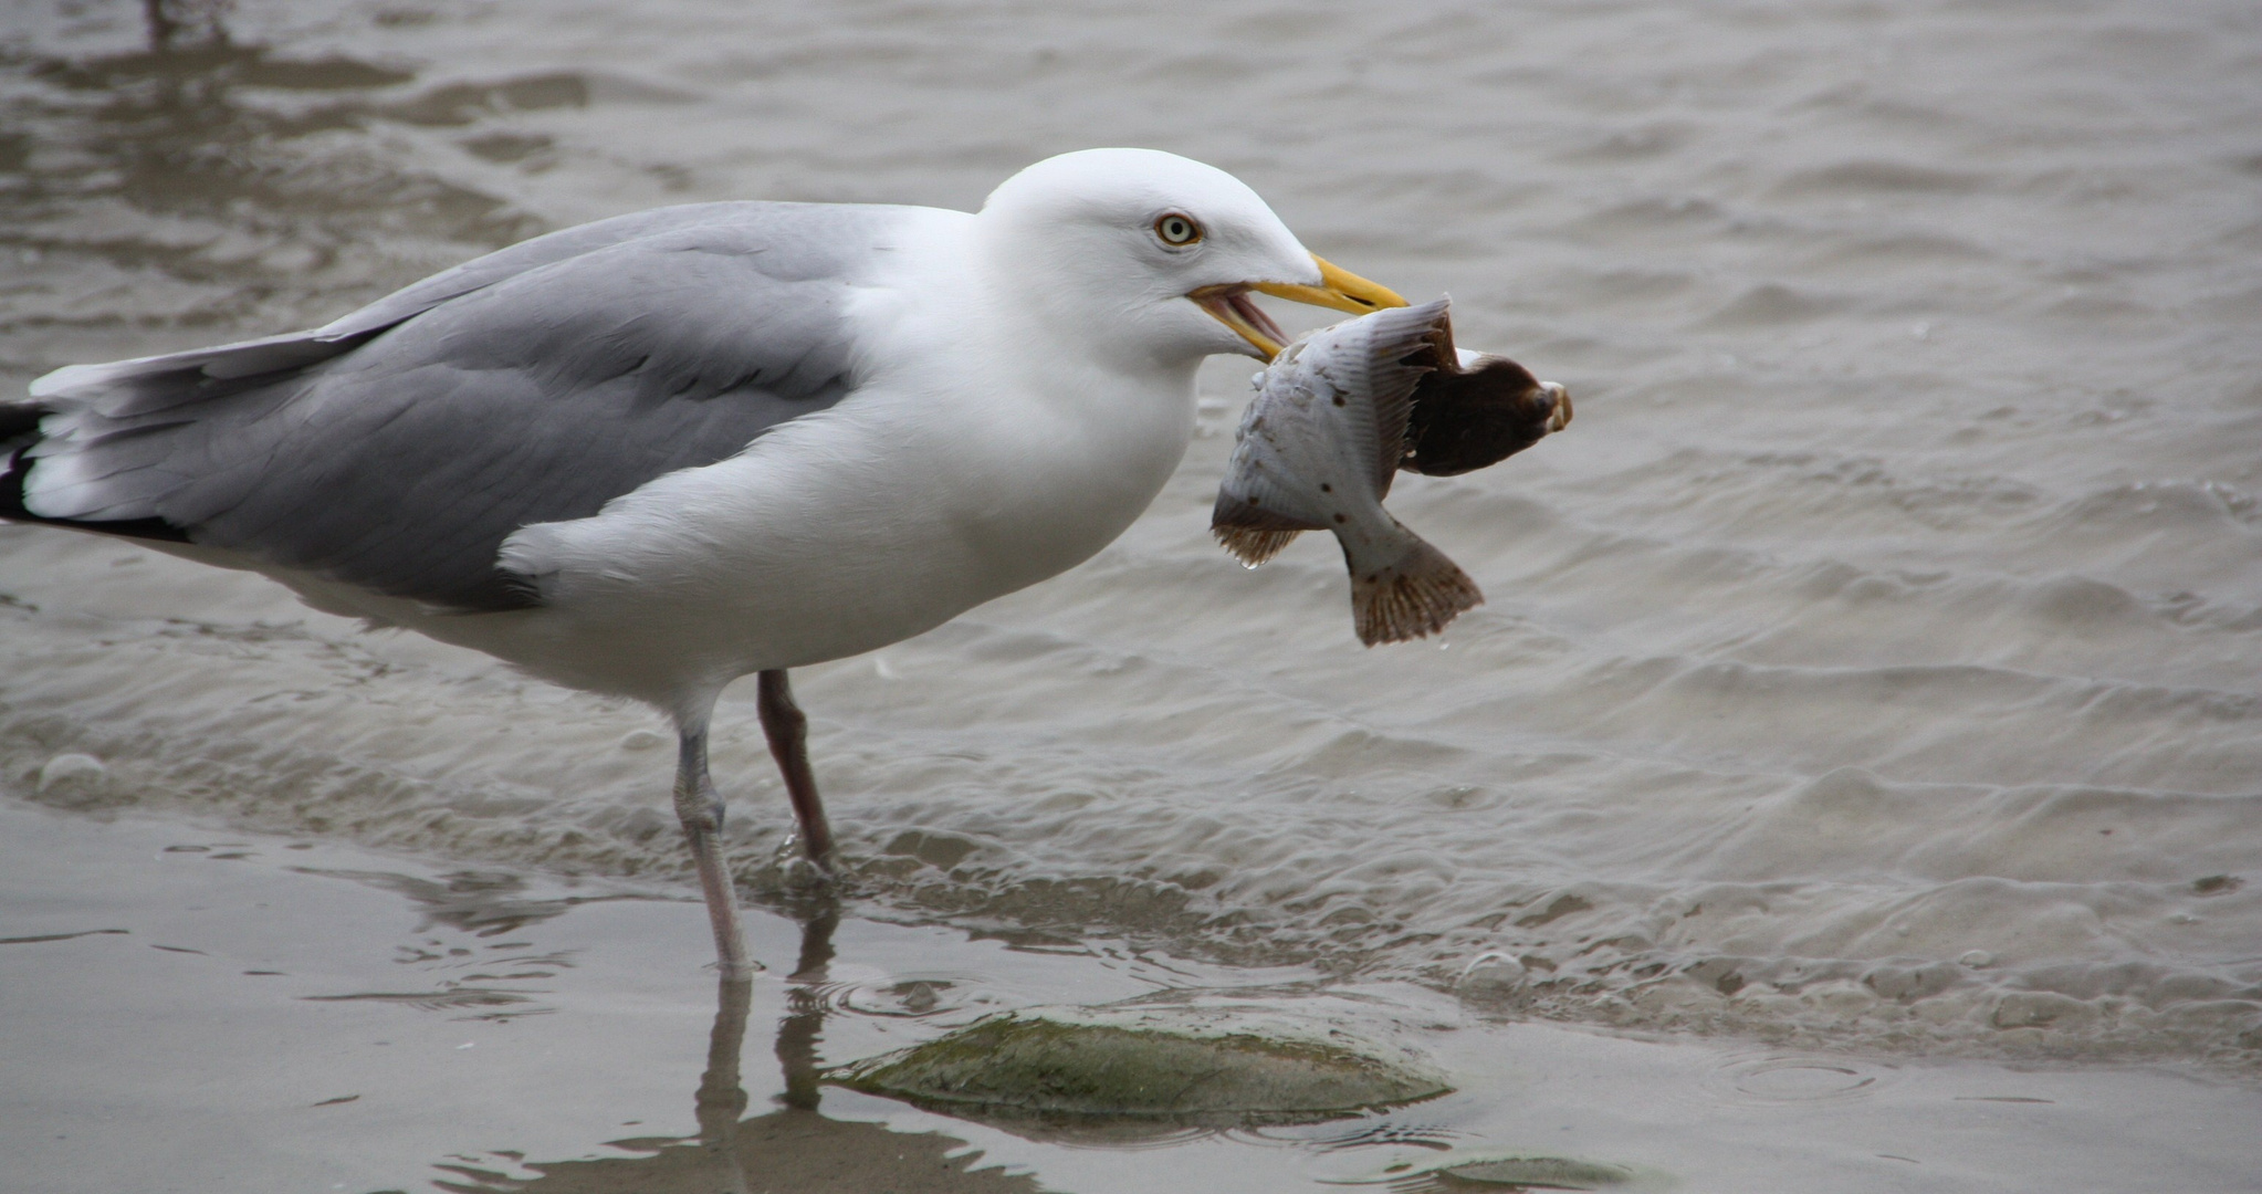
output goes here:
[[1405, 305], [1312, 256], [1233, 174], [1156, 149], [1045, 158], [993, 190], [977, 219], [1004, 289], [1111, 357], [1271, 360], [1287, 335], [1251, 292], [1357, 314]]

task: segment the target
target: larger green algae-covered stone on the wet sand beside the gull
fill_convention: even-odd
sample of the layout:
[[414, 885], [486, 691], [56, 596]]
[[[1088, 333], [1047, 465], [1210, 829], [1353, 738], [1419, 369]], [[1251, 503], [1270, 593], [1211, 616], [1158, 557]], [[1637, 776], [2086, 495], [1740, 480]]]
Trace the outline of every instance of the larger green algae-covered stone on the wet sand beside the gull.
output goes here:
[[1192, 1009], [1009, 1011], [828, 1081], [957, 1113], [1242, 1122], [1330, 1119], [1452, 1090], [1411, 1049]]

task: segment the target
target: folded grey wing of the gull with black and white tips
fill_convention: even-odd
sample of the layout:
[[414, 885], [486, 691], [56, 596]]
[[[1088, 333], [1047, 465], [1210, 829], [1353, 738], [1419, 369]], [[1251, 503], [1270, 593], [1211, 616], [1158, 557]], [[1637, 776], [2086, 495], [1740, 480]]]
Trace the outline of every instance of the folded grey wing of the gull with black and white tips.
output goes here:
[[314, 332], [59, 371], [34, 387], [16, 504], [439, 606], [525, 606], [495, 565], [518, 527], [595, 516], [848, 393], [841, 308], [900, 213], [665, 208]]

